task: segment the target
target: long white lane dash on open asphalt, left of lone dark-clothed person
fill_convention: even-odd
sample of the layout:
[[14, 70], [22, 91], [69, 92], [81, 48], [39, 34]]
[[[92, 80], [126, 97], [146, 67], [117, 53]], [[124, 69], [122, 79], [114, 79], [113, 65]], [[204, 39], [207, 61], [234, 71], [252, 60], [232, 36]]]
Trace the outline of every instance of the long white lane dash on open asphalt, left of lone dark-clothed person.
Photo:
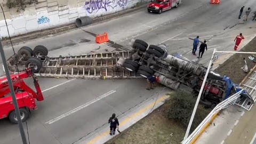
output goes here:
[[71, 115], [71, 114], [74, 114], [74, 113], [76, 113], [77, 111], [79, 111], [79, 110], [81, 110], [81, 109], [83, 109], [83, 108], [85, 108], [85, 107], [88, 107], [88, 106], [92, 105], [94, 102], [97, 102], [97, 101], [99, 101], [99, 100], [101, 100], [101, 99], [103, 99], [103, 98], [107, 97], [108, 95], [110, 95], [110, 94], [112, 94], [112, 93], [115, 93], [115, 92], [116, 92], [116, 91], [114, 91], [114, 90], [109, 91], [109, 92], [107, 92], [107, 93], [101, 95], [100, 97], [98, 97], [98, 98], [96, 98], [96, 99], [93, 99], [93, 100], [91, 100], [91, 101], [85, 103], [84, 105], [81, 105], [81, 106], [79, 106], [79, 107], [77, 107], [77, 108], [74, 108], [73, 110], [68, 111], [68, 112], [65, 113], [65, 114], [62, 114], [62, 115], [60, 115], [60, 116], [58, 116], [58, 117], [55, 117], [55, 118], [51, 119], [50, 121], [46, 122], [45, 124], [52, 124], [52, 123], [55, 123], [55, 122], [59, 121], [60, 119], [65, 118], [65, 117], [67, 117], [67, 116], [69, 116], [69, 115]]

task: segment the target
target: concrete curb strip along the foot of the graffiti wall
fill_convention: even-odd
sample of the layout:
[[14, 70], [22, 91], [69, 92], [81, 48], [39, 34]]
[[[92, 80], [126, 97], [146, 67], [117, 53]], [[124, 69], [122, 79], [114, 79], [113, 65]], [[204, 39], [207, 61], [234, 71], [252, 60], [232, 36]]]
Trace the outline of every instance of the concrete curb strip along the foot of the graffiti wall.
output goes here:
[[[137, 5], [131, 7], [130, 9], [126, 9], [126, 10], [119, 11], [119, 12], [112, 13], [112, 14], [107, 14], [102, 17], [93, 18], [91, 25], [93, 25], [94, 23], [97, 23], [97, 22], [101, 22], [103, 20], [120, 17], [127, 13], [137, 12], [140, 9], [142, 9], [142, 7], [146, 7], [146, 5], [147, 5], [147, 2], [137, 3]], [[87, 26], [90, 26], [90, 25], [87, 25]], [[83, 27], [79, 27], [79, 28], [83, 28]], [[69, 23], [66, 25], [56, 26], [56, 27], [43, 29], [43, 30], [32, 31], [32, 32], [22, 34], [19, 36], [14, 36], [14, 37], [11, 37], [11, 39], [12, 39], [12, 43], [15, 45], [20, 42], [27, 41], [28, 39], [31, 40], [31, 39], [41, 38], [41, 37], [44, 37], [47, 35], [63, 34], [63, 33], [67, 33], [70, 30], [79, 29], [79, 28], [77, 28], [75, 23], [72, 22], [72, 23]], [[2, 44], [5, 46], [11, 45], [10, 39], [9, 38], [2, 39]]]

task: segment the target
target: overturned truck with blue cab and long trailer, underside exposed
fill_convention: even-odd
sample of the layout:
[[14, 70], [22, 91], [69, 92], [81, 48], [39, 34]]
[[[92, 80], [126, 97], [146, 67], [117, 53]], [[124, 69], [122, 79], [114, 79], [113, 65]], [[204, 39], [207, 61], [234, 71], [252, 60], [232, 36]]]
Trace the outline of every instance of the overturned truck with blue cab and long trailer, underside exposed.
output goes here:
[[[83, 54], [62, 57], [47, 57], [46, 47], [39, 45], [34, 50], [21, 48], [18, 54], [7, 60], [13, 72], [34, 68], [41, 77], [70, 78], [147, 78], [159, 77], [159, 83], [177, 90], [180, 84], [191, 87], [198, 93], [206, 73], [206, 67], [190, 61], [178, 53], [168, 54], [165, 44], [148, 45], [136, 39], [131, 51]], [[207, 77], [201, 102], [215, 106], [229, 95], [241, 90], [229, 77], [211, 71]]]

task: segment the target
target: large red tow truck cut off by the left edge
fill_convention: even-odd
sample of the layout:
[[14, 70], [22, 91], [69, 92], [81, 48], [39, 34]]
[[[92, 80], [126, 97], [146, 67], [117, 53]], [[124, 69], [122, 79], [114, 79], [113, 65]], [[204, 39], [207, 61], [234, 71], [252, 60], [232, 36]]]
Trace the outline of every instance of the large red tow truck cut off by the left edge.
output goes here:
[[[23, 78], [27, 77], [33, 77], [36, 92], [23, 81]], [[11, 79], [20, 109], [21, 121], [25, 122], [29, 117], [30, 110], [37, 108], [35, 99], [37, 99], [37, 101], [42, 101], [44, 100], [44, 97], [37, 78], [33, 73], [33, 69], [26, 68], [25, 71], [22, 71], [19, 74], [12, 74]], [[9, 117], [10, 121], [14, 124], [18, 123], [10, 94], [9, 84], [6, 76], [3, 76], [0, 77], [0, 119], [6, 117]]]

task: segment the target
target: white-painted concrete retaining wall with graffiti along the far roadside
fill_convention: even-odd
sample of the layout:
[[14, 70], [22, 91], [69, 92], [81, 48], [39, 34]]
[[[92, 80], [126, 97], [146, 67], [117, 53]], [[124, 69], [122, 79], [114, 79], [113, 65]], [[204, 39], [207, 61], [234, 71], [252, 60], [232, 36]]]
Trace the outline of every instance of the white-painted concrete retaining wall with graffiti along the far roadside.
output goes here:
[[[17, 8], [9, 9], [4, 2], [4, 13], [11, 36], [26, 34], [68, 23], [76, 18], [90, 16], [92, 18], [115, 13], [137, 3], [149, 0], [38, 0], [38, 4], [27, 5], [25, 11], [17, 12]], [[0, 13], [0, 37], [8, 36], [3, 13]]]

